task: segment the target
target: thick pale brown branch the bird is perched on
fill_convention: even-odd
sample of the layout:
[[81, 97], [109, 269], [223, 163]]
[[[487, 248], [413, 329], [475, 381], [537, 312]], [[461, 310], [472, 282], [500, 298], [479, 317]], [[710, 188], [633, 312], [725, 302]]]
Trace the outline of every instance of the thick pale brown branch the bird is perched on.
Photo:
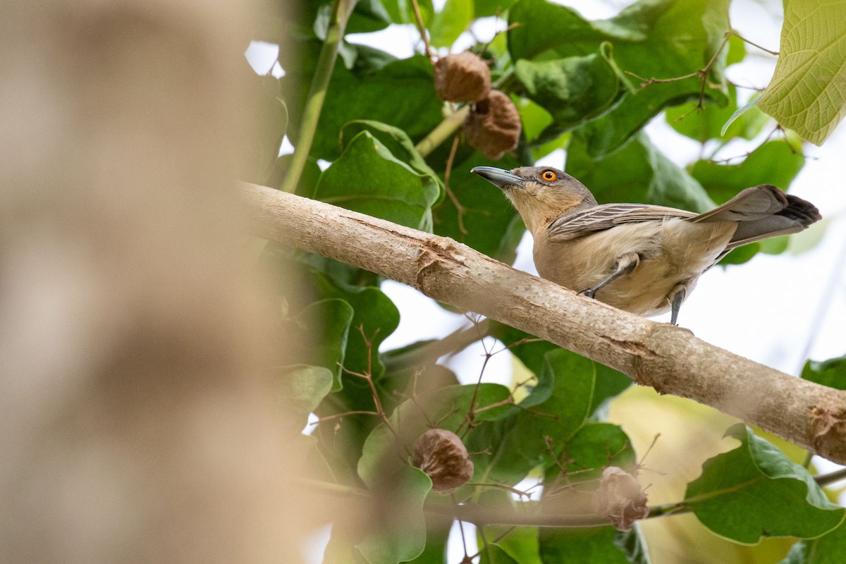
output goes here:
[[773, 370], [693, 336], [577, 296], [450, 238], [248, 184], [258, 233], [365, 268], [689, 397], [846, 463], [846, 392]]

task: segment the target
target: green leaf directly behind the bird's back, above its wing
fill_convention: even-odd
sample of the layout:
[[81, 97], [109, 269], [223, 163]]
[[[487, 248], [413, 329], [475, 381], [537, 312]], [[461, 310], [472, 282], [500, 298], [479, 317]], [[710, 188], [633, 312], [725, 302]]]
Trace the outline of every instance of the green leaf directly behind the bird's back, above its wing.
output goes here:
[[601, 204], [645, 202], [690, 211], [713, 207], [700, 183], [658, 151], [643, 132], [620, 151], [600, 159], [588, 155], [584, 137], [574, 134], [566, 170]]

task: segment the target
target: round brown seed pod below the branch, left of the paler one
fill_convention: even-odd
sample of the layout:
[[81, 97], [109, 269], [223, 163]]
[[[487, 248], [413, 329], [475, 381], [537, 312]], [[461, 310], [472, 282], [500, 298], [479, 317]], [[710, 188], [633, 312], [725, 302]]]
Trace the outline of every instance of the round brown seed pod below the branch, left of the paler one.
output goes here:
[[430, 429], [415, 441], [417, 468], [431, 478], [431, 489], [454, 490], [473, 477], [473, 462], [464, 443], [452, 431]]

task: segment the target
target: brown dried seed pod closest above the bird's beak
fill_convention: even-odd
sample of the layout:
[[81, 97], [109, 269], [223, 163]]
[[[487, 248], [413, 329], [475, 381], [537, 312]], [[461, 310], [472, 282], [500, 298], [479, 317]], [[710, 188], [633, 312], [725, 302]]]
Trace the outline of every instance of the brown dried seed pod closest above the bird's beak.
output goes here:
[[520, 138], [520, 114], [511, 98], [491, 90], [485, 100], [475, 103], [464, 121], [467, 141], [492, 161], [514, 149]]

